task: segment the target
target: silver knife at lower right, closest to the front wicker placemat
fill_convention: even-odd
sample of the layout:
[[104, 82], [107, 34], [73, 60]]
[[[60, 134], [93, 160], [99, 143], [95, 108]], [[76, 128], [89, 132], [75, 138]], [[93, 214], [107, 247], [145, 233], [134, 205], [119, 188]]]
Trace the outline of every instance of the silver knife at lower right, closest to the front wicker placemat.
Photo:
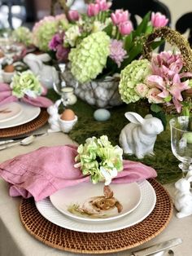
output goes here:
[[182, 243], [181, 238], [173, 238], [169, 241], [165, 241], [157, 245], [152, 245], [145, 249], [137, 250], [133, 252], [131, 256], [147, 256], [147, 255], [155, 254], [162, 251], [163, 249], [169, 249], [173, 246], [180, 245], [181, 243]]

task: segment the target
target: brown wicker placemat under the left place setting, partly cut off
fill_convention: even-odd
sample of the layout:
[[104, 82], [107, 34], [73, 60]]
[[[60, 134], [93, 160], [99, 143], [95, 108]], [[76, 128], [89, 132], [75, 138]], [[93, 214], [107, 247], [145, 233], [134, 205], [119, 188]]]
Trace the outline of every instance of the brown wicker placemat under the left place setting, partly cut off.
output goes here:
[[41, 108], [41, 113], [33, 121], [29, 121], [26, 124], [21, 125], [21, 126], [15, 126], [15, 127], [11, 127], [11, 128], [1, 129], [0, 137], [8, 138], [8, 137], [14, 137], [14, 136], [18, 136], [18, 135], [27, 134], [33, 130], [37, 130], [41, 126], [44, 126], [46, 124], [46, 121], [48, 120], [48, 118], [49, 118], [49, 114], [46, 112], [46, 109]]

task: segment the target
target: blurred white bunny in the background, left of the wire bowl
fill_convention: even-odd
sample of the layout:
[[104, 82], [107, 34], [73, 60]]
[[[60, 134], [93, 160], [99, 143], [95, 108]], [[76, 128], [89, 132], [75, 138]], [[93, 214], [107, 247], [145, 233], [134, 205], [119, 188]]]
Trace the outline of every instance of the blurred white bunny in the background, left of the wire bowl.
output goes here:
[[43, 63], [47, 61], [50, 61], [50, 55], [46, 53], [41, 55], [29, 53], [24, 56], [24, 63], [28, 64], [32, 72], [40, 77], [41, 83], [47, 88], [52, 88], [54, 82], [59, 82], [59, 75], [55, 67]]

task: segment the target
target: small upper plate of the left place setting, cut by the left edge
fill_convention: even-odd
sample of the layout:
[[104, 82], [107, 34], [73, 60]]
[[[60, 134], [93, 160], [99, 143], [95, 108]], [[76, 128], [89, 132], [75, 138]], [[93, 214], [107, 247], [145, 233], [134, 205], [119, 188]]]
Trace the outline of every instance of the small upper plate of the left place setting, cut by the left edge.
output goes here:
[[0, 106], [0, 122], [11, 120], [22, 113], [20, 104], [11, 102]]

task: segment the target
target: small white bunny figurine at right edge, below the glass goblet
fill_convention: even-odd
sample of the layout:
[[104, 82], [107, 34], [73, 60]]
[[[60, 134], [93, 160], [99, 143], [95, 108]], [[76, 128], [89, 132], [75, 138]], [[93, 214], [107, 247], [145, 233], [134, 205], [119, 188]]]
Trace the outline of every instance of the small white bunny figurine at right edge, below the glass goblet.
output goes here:
[[177, 192], [175, 195], [174, 205], [178, 211], [177, 218], [183, 218], [192, 214], [192, 193], [190, 192], [190, 182], [192, 174], [186, 175], [185, 178], [179, 179], [175, 183]]

